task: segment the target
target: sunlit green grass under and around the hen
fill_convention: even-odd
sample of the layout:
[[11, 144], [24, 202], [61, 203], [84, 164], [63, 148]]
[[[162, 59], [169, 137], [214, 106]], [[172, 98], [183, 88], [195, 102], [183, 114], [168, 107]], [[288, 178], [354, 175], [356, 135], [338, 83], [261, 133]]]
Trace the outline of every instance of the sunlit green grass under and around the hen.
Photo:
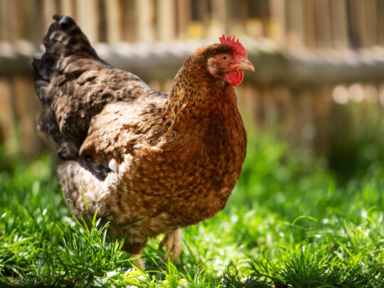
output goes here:
[[0, 172], [0, 286], [383, 287], [384, 169], [338, 181], [326, 166], [255, 135], [225, 210], [183, 230], [176, 265], [151, 240], [140, 272], [108, 225], [75, 222], [48, 156], [14, 161]]

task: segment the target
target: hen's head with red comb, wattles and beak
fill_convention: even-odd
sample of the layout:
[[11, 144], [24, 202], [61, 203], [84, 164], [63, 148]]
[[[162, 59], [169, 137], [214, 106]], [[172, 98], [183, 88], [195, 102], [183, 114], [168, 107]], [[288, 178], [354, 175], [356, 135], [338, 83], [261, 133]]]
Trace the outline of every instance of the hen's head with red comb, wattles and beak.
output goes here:
[[220, 37], [220, 44], [211, 51], [207, 68], [210, 75], [215, 78], [224, 78], [233, 86], [238, 86], [242, 82], [244, 78], [242, 70], [255, 72], [255, 67], [248, 60], [247, 51], [239, 40], [235, 41], [235, 36], [225, 38], [224, 35]]

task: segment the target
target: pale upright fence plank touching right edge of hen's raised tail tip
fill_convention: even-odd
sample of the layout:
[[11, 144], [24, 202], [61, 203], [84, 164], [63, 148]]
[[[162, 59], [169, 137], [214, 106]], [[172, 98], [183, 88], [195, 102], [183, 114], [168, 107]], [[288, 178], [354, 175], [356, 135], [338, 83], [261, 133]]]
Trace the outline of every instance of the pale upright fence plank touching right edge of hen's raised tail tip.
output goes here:
[[97, 2], [94, 0], [78, 0], [76, 2], [77, 22], [85, 33], [90, 43], [98, 41], [98, 11]]

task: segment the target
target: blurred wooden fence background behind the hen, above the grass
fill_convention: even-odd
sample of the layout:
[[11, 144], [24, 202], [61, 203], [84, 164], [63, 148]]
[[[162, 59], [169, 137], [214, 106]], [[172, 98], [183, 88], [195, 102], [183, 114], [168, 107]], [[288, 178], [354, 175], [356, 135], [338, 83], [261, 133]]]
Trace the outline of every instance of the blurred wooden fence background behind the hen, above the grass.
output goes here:
[[30, 63], [53, 14], [73, 16], [101, 58], [165, 91], [196, 47], [235, 35], [256, 68], [237, 88], [250, 154], [268, 134], [342, 178], [384, 163], [383, 0], [0, 0], [2, 159], [47, 150]]

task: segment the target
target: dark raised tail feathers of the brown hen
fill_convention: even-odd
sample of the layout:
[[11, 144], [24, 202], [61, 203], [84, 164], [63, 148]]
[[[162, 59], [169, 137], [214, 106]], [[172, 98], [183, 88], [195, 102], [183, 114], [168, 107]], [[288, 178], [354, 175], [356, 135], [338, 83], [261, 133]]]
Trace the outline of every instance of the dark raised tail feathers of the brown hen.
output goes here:
[[[55, 21], [50, 24], [48, 32], [43, 38], [46, 52], [41, 58], [33, 58], [32, 60], [36, 95], [46, 108], [38, 120], [38, 129], [50, 135], [59, 144], [58, 154], [60, 158], [76, 159], [78, 148], [75, 149], [73, 144], [65, 142], [60, 134], [57, 119], [50, 111], [49, 107], [54, 97], [53, 93], [50, 92], [50, 81], [55, 77], [55, 73], [63, 72], [65, 74], [65, 68], [73, 63], [70, 59], [76, 58], [77, 55], [80, 58], [97, 60], [100, 58], [73, 18], [55, 15], [53, 19]], [[73, 70], [78, 68], [81, 69], [77, 66], [72, 67], [70, 72], [74, 73]]]

